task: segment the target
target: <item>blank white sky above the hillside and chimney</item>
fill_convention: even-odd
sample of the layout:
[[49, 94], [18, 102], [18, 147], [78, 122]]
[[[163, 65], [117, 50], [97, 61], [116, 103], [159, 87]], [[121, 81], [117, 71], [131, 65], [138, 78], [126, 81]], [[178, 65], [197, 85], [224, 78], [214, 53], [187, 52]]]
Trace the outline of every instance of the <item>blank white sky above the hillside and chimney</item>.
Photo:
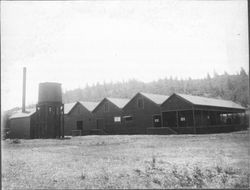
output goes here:
[[202, 78], [248, 71], [247, 1], [2, 1], [2, 109], [38, 84]]

